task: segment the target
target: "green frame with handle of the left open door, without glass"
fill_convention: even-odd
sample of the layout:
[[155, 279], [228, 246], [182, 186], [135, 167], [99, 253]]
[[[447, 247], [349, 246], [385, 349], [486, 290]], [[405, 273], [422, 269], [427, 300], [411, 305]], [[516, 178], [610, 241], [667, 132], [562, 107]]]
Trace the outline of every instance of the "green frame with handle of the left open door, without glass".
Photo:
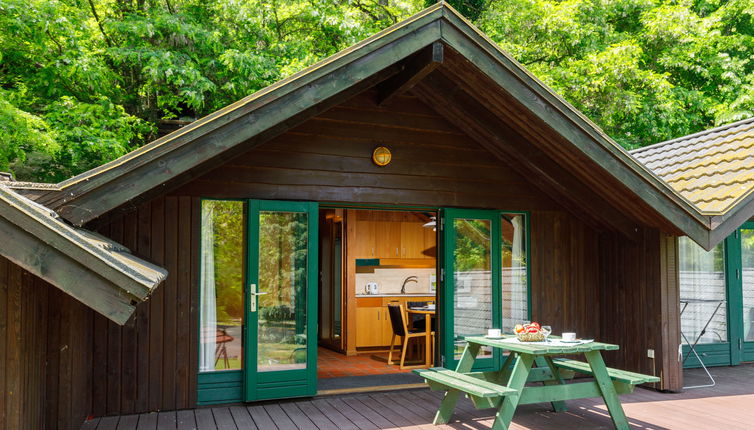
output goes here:
[[[258, 313], [250, 307], [250, 285], [259, 285], [259, 214], [262, 211], [307, 214], [306, 261], [306, 368], [257, 372]], [[319, 213], [316, 202], [251, 200], [249, 202], [248, 251], [244, 308], [244, 401], [314, 396], [317, 393], [317, 267]], [[298, 313], [297, 313], [298, 314]]]

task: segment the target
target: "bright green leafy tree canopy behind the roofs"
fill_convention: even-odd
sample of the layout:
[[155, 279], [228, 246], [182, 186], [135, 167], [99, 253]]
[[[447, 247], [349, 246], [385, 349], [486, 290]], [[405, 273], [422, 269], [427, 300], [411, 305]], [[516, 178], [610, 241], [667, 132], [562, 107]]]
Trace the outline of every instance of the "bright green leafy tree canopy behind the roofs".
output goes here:
[[[0, 170], [59, 181], [432, 0], [0, 0]], [[455, 0], [628, 148], [754, 116], [750, 0]]]

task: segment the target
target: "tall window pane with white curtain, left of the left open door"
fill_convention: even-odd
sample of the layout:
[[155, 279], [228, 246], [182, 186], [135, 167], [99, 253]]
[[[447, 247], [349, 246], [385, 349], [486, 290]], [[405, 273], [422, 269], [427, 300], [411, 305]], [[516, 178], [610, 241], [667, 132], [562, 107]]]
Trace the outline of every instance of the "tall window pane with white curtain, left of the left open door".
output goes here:
[[199, 370], [240, 369], [244, 203], [202, 202]]

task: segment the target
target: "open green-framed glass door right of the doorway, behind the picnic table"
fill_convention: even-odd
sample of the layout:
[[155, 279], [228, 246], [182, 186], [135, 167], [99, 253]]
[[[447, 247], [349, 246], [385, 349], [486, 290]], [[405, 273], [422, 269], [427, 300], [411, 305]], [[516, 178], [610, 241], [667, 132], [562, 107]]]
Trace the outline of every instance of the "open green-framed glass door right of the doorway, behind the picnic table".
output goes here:
[[[454, 368], [466, 336], [500, 326], [500, 218], [497, 211], [444, 211], [444, 366]], [[495, 368], [499, 354], [483, 349], [475, 368]]]

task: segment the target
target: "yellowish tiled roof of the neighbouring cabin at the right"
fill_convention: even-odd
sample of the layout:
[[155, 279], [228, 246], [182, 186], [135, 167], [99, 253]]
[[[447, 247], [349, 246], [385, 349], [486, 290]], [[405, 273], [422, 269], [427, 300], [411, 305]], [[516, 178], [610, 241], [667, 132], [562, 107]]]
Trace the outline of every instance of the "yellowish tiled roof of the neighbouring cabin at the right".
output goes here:
[[715, 243], [754, 215], [754, 117], [631, 155], [711, 217]]

